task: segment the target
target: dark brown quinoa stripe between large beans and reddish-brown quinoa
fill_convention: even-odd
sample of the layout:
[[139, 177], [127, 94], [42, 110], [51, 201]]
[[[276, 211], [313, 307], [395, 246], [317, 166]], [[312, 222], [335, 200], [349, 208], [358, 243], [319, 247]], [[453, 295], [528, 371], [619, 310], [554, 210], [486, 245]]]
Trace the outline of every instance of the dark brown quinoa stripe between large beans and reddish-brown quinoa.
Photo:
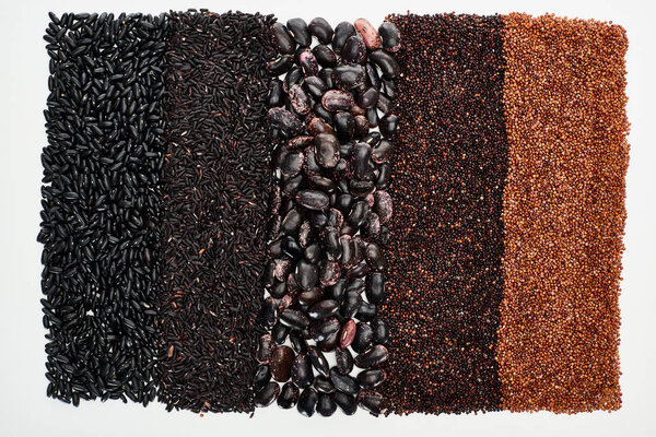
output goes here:
[[389, 410], [497, 410], [506, 175], [502, 20], [393, 15], [403, 38], [390, 194]]

